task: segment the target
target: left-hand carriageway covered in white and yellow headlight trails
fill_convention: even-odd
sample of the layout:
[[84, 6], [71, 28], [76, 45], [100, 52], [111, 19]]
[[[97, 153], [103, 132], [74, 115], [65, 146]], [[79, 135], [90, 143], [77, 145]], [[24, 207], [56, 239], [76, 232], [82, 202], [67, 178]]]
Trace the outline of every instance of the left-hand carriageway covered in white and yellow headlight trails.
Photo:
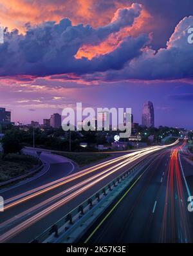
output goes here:
[[[96, 193], [101, 187], [141, 160], [167, 147], [149, 147], [118, 156], [57, 180], [43, 182], [6, 197], [5, 211], [0, 213], [0, 242], [30, 242], [39, 233], [64, 217], [71, 209]], [[55, 168], [57, 169], [57, 168]], [[18, 193], [20, 189], [20, 193]]]

